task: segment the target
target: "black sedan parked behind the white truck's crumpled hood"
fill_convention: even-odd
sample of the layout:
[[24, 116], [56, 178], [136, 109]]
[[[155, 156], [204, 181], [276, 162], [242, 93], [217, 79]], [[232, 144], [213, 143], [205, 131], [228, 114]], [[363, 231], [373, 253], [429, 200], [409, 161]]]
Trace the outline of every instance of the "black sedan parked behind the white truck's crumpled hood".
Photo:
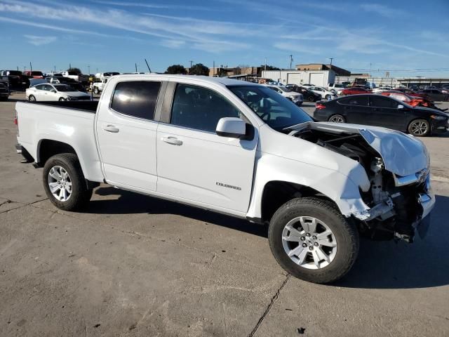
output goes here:
[[413, 136], [445, 132], [448, 114], [426, 107], [411, 107], [382, 95], [351, 95], [316, 103], [314, 119], [366, 124], [406, 131]]

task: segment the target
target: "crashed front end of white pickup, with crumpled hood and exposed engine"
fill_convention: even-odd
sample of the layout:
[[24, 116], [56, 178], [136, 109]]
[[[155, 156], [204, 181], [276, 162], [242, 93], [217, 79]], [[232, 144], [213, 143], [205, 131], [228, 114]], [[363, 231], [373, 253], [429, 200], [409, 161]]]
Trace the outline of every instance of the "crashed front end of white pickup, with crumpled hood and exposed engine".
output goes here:
[[307, 123], [290, 136], [308, 140], [358, 161], [370, 186], [360, 190], [364, 209], [350, 216], [371, 239], [413, 242], [424, 237], [435, 204], [431, 192], [429, 154], [420, 140], [398, 131], [350, 124]]

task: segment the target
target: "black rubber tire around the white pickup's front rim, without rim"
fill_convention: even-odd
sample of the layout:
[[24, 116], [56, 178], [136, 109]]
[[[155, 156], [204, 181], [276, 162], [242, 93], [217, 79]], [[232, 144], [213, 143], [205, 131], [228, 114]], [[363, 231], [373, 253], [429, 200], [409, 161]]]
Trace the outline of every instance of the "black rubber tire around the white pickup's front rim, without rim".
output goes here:
[[[320, 219], [332, 230], [337, 242], [333, 260], [320, 269], [307, 269], [291, 260], [283, 248], [282, 235], [286, 224], [298, 216]], [[290, 275], [307, 282], [326, 284], [335, 282], [349, 272], [358, 255], [359, 238], [356, 227], [344, 218], [331, 201], [307, 197], [283, 204], [269, 223], [269, 246], [276, 261]]]

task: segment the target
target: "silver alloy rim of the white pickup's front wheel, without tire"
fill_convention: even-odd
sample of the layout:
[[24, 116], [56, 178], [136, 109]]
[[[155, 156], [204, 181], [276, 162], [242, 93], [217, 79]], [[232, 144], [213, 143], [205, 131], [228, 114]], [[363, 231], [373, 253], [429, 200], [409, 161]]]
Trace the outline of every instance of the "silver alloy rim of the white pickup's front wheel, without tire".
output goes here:
[[328, 266], [337, 253], [337, 240], [332, 230], [311, 216], [290, 220], [282, 232], [282, 245], [290, 260], [307, 269]]

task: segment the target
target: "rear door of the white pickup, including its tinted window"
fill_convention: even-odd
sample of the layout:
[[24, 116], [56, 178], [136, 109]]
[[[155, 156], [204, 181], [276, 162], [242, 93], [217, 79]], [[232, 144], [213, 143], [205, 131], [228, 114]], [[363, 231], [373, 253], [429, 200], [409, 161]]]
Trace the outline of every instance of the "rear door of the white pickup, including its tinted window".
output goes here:
[[[118, 81], [118, 80], [117, 80]], [[118, 81], [108, 86], [98, 111], [97, 139], [107, 183], [132, 190], [156, 190], [154, 121], [162, 81]]]

